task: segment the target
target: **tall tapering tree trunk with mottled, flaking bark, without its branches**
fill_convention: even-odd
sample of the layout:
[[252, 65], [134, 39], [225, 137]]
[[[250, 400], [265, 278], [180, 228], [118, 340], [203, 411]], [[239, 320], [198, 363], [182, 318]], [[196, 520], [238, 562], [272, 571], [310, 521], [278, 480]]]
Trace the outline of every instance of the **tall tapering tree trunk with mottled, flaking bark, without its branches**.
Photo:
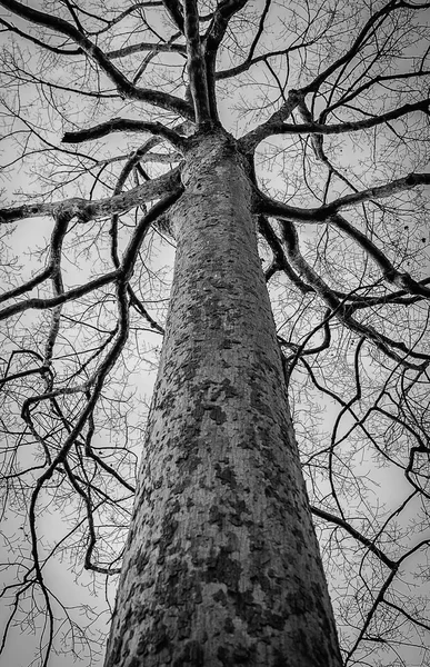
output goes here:
[[233, 142], [200, 139], [183, 182], [106, 666], [339, 667], [251, 186]]

